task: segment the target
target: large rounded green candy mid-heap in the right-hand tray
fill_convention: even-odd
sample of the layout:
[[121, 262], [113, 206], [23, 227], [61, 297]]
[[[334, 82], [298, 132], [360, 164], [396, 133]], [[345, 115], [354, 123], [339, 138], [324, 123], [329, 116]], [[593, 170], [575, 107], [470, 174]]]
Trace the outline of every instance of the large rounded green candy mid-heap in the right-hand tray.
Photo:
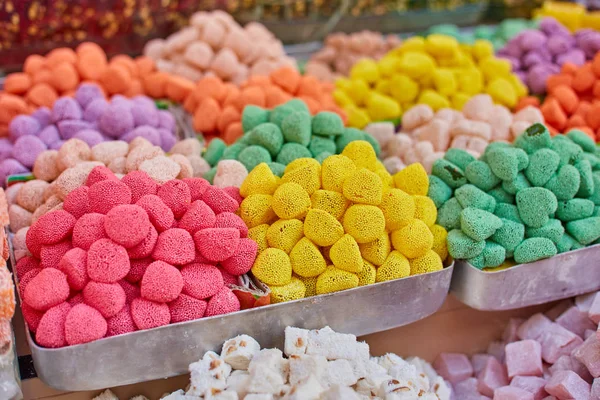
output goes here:
[[516, 196], [519, 216], [525, 225], [541, 228], [556, 211], [556, 196], [548, 189], [533, 187], [519, 191]]

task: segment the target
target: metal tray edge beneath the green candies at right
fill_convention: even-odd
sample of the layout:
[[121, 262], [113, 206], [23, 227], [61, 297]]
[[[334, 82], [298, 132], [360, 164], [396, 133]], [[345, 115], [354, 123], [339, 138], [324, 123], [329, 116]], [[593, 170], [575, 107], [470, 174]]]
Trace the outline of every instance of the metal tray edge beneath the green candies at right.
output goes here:
[[495, 271], [456, 261], [450, 292], [470, 307], [512, 310], [600, 289], [600, 245]]

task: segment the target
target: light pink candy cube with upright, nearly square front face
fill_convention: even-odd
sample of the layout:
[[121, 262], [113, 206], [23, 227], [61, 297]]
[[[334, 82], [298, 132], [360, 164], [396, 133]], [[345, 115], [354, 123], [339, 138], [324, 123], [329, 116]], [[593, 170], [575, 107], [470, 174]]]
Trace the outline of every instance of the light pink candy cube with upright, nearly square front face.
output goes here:
[[542, 346], [535, 340], [521, 340], [506, 345], [506, 368], [508, 377], [541, 376]]

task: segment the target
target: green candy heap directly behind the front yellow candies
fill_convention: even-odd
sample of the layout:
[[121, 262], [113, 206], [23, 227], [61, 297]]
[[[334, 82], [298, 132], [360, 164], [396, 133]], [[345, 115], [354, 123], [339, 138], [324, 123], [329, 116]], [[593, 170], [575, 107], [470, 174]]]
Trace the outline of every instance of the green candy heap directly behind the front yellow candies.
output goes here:
[[260, 163], [267, 163], [273, 174], [283, 175], [286, 165], [297, 158], [309, 157], [322, 162], [341, 153], [348, 143], [368, 141], [379, 156], [381, 148], [373, 136], [355, 128], [345, 128], [340, 116], [323, 111], [310, 115], [306, 104], [293, 99], [267, 110], [246, 106], [242, 112], [244, 135], [227, 146], [213, 139], [203, 157], [212, 167], [204, 178], [211, 181], [221, 160], [237, 160], [248, 172]]

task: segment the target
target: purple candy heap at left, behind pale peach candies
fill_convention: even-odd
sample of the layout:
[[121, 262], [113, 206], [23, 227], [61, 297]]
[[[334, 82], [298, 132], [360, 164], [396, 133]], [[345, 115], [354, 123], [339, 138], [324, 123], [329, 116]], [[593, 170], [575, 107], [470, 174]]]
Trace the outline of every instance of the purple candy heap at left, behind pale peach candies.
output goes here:
[[[175, 144], [176, 129], [173, 116], [158, 110], [154, 101], [146, 96], [129, 100], [115, 95], [109, 102], [99, 86], [83, 83], [74, 98], [61, 97], [52, 109], [40, 107], [31, 115], [12, 119], [9, 138], [0, 139], [0, 182], [4, 185], [7, 176], [35, 168], [40, 154], [44, 154], [41, 157], [44, 160], [48, 154], [58, 154], [65, 140], [75, 138], [85, 142], [89, 153], [88, 146], [106, 140], [131, 142], [141, 136], [168, 151]], [[83, 159], [81, 153], [71, 150], [62, 151], [60, 170], [70, 166], [67, 158]], [[54, 171], [55, 168], [38, 170], [40, 176]]]

